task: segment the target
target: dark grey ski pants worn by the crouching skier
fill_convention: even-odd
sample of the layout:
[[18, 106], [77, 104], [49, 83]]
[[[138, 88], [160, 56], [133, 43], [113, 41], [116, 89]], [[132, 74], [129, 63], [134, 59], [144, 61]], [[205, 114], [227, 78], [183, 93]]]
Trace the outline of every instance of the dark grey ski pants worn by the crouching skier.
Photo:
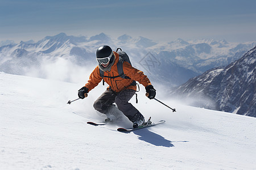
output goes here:
[[131, 120], [131, 118], [139, 112], [131, 103], [128, 102], [135, 92], [135, 90], [131, 89], [123, 90], [119, 93], [106, 90], [96, 101], [94, 101], [93, 107], [98, 112], [111, 114], [114, 107], [113, 103], [115, 103], [117, 104], [118, 109], [125, 114], [129, 120]]

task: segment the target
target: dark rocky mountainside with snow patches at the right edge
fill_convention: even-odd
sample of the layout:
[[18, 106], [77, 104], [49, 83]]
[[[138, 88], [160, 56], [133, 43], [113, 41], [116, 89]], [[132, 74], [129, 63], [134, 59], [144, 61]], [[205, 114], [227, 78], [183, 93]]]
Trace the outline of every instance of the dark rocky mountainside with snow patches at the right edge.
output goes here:
[[192, 105], [256, 117], [255, 88], [256, 46], [228, 66], [188, 80], [171, 94], [180, 99], [190, 97]]

